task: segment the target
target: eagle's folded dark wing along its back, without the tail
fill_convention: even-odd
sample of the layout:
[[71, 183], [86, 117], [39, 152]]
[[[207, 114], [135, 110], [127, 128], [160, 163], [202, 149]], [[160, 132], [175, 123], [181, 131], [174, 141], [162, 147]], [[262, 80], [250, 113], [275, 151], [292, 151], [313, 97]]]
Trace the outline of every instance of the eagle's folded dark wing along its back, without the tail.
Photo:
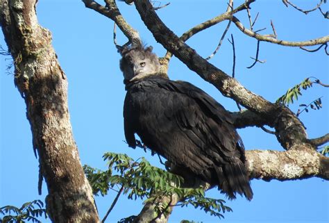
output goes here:
[[[159, 86], [179, 94], [179, 97], [173, 101], [172, 106], [177, 109], [172, 115], [178, 126], [185, 128], [191, 140], [199, 138], [208, 146], [211, 145], [212, 149], [216, 150], [214, 152], [221, 154], [224, 160], [240, 155], [242, 157], [239, 158], [244, 159], [242, 140], [234, 129], [230, 113], [221, 104], [191, 83], [163, 81]], [[203, 143], [197, 144], [201, 146]]]

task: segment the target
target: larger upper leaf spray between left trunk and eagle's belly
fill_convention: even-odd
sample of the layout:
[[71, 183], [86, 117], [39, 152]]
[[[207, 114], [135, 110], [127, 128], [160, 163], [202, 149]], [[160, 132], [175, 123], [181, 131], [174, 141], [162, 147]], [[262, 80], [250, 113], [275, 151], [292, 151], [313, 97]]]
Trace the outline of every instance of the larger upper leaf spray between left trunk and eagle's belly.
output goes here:
[[[176, 188], [169, 182], [180, 185], [183, 179], [158, 167], [153, 167], [145, 158], [133, 160], [126, 154], [106, 153], [104, 160], [108, 160], [108, 170], [101, 171], [85, 165], [83, 168], [87, 179], [92, 185], [95, 195], [101, 192], [104, 196], [108, 189], [116, 185], [124, 186], [124, 194], [128, 199], [144, 199], [151, 190], [163, 190], [173, 193]], [[117, 174], [112, 174], [116, 172]]]

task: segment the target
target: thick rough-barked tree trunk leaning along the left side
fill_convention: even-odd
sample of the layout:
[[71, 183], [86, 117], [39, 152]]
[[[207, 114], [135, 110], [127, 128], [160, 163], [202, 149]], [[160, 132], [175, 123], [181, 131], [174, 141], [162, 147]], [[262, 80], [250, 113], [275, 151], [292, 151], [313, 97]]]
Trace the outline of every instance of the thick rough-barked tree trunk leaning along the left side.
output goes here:
[[15, 62], [15, 84], [26, 103], [40, 176], [47, 183], [47, 212], [53, 222], [99, 222], [69, 122], [67, 79], [51, 33], [37, 23], [35, 3], [0, 0], [0, 24]]

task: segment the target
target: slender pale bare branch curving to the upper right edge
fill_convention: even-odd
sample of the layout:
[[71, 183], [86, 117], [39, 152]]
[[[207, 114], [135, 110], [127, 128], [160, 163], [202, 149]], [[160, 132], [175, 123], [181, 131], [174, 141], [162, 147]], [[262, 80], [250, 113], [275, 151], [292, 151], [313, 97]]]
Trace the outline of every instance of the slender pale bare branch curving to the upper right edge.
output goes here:
[[329, 42], [329, 35], [326, 35], [326, 36], [323, 36], [321, 38], [317, 38], [314, 40], [307, 40], [307, 41], [301, 41], [301, 42], [289, 42], [289, 41], [285, 41], [285, 40], [278, 40], [276, 38], [273, 38], [273, 36], [271, 36], [271, 35], [260, 35], [258, 33], [255, 33], [254, 31], [251, 31], [250, 29], [244, 27], [244, 25], [235, 16], [233, 16], [232, 22], [235, 24], [235, 26], [237, 26], [237, 28], [239, 28], [240, 31], [242, 31], [244, 34], [246, 34], [252, 38], [255, 38], [260, 41], [279, 44], [282, 46], [307, 47], [307, 46], [325, 44], [326, 42]]

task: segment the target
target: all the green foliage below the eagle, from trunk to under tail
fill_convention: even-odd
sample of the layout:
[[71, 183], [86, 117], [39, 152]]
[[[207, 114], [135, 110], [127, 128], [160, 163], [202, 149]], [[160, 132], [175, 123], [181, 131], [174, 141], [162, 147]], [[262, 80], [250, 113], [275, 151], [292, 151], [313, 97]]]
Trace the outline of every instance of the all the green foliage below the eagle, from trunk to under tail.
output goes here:
[[[133, 160], [126, 154], [115, 153], [106, 153], [103, 158], [108, 162], [106, 171], [84, 166], [95, 195], [101, 193], [104, 196], [109, 189], [115, 190], [118, 186], [123, 186], [123, 193], [128, 195], [128, 199], [140, 198], [145, 199], [144, 204], [155, 204], [155, 215], [166, 214], [169, 206], [158, 202], [157, 198], [174, 194], [180, 197], [176, 206], [192, 205], [217, 217], [223, 217], [221, 212], [231, 211], [231, 208], [224, 205], [225, 201], [205, 197], [203, 188], [181, 188], [182, 177], [152, 166], [145, 158]], [[121, 222], [130, 220], [126, 218]]]

